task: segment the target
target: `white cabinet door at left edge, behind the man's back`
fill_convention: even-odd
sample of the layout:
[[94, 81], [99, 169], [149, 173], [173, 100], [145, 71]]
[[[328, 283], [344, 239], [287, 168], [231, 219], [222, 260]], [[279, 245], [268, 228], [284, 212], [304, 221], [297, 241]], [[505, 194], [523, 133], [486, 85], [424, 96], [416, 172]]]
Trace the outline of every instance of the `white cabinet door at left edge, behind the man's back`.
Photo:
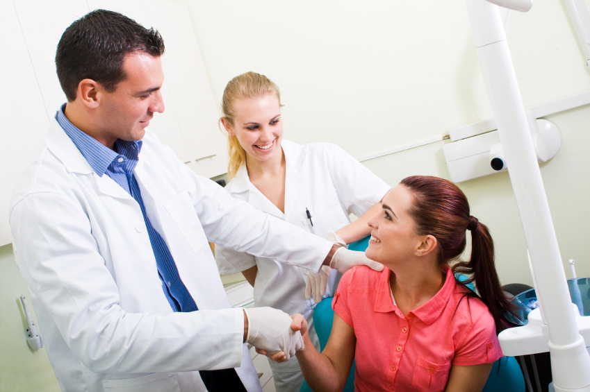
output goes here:
[[0, 246], [10, 244], [8, 207], [22, 171], [43, 143], [47, 111], [12, 0], [0, 0], [0, 26], [8, 32], [0, 61]]

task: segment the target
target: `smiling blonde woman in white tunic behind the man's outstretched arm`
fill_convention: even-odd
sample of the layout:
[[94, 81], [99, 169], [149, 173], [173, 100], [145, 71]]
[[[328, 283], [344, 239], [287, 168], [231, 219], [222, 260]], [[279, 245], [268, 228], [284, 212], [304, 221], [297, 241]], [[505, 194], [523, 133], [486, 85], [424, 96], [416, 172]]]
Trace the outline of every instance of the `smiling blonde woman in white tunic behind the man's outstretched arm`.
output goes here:
[[[226, 189], [231, 196], [320, 237], [336, 232], [329, 239], [339, 244], [366, 237], [370, 232], [367, 221], [380, 210], [379, 201], [390, 187], [334, 144], [300, 146], [284, 140], [280, 108], [279, 89], [265, 76], [248, 72], [228, 83], [221, 119], [229, 133], [231, 181]], [[360, 217], [352, 224], [348, 218], [351, 212]], [[362, 259], [357, 264], [372, 264], [363, 253], [356, 254]], [[216, 248], [215, 258], [220, 273], [244, 273], [254, 286], [256, 307], [303, 314], [311, 326], [310, 339], [319, 348], [311, 318], [313, 307], [321, 300], [326, 280], [325, 296], [333, 296], [338, 271], [345, 269], [326, 268], [319, 276], [306, 275], [294, 264], [223, 246]], [[372, 264], [374, 269], [379, 267]], [[313, 299], [309, 298], [311, 289]], [[303, 377], [296, 359], [270, 364], [277, 391], [300, 390]]]

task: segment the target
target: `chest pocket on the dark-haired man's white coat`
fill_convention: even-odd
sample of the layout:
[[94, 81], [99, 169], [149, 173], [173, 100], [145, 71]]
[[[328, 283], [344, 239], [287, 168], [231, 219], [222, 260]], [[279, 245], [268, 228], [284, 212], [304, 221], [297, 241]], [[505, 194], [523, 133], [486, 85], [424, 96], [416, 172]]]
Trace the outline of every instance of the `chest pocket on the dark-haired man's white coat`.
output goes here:
[[207, 244], [207, 237], [190, 196], [188, 196], [188, 191], [186, 189], [181, 191], [177, 196], [167, 201], [164, 207], [174, 219], [174, 223], [177, 224], [184, 238], [188, 241], [192, 251], [198, 253], [199, 249]]

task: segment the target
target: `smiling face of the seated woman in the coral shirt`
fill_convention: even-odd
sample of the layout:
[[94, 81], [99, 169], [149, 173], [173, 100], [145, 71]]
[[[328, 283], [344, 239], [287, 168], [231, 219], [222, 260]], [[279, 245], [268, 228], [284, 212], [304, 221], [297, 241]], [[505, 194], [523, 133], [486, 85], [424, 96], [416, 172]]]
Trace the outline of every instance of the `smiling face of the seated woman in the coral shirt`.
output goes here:
[[404, 185], [398, 185], [385, 195], [382, 210], [368, 222], [371, 239], [366, 256], [385, 266], [411, 259], [423, 237], [416, 234], [414, 221], [408, 214], [412, 195]]

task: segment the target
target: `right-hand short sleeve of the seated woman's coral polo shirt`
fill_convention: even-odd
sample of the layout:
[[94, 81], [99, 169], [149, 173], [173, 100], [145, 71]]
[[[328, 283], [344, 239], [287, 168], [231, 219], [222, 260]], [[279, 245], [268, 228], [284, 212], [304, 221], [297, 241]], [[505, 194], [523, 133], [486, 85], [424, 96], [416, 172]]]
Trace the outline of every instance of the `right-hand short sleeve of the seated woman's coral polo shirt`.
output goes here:
[[464, 334], [459, 342], [452, 360], [453, 365], [470, 366], [491, 364], [504, 357], [498, 336], [495, 334], [495, 323], [486, 308], [473, 323], [470, 331]]

